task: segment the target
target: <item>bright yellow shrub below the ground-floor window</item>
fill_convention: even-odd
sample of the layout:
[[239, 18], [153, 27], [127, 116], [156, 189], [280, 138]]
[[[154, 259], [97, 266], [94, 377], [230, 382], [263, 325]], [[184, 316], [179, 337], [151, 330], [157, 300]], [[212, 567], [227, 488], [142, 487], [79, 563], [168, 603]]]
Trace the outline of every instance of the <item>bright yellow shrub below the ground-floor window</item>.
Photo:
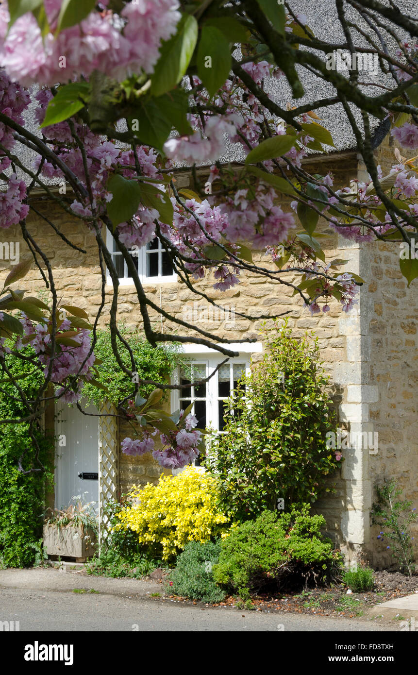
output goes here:
[[230, 516], [217, 507], [219, 483], [208, 472], [188, 466], [177, 476], [162, 475], [157, 485], [134, 487], [130, 504], [117, 513], [115, 530], [138, 533], [139, 541], [163, 560], [188, 541], [209, 541], [226, 534]]

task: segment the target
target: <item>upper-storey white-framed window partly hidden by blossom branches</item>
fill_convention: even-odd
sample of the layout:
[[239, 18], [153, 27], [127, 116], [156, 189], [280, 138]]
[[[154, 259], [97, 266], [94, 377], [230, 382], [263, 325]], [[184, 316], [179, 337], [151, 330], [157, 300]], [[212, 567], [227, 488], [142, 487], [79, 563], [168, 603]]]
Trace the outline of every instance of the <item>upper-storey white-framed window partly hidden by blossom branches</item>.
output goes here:
[[[109, 232], [107, 248], [111, 252], [113, 264], [115, 265], [120, 282], [122, 284], [132, 284], [133, 281], [129, 276], [128, 265], [126, 265], [122, 252]], [[147, 246], [142, 246], [139, 250], [132, 250], [131, 257], [136, 265], [136, 269], [138, 269], [140, 281], [143, 283], [149, 284], [155, 283], [155, 281], [172, 282], [177, 280], [169, 255], [158, 237], [155, 237]], [[110, 277], [108, 281], [111, 283]]]

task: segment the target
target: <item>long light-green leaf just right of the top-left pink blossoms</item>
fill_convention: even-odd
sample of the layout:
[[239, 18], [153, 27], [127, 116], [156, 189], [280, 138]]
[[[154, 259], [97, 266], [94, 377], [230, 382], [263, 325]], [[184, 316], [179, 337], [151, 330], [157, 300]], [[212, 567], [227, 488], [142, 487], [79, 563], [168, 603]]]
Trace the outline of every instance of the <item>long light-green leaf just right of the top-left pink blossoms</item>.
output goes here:
[[190, 14], [183, 14], [176, 33], [160, 49], [160, 57], [151, 80], [151, 92], [154, 96], [162, 96], [173, 89], [186, 74], [196, 47], [197, 35], [197, 20]]

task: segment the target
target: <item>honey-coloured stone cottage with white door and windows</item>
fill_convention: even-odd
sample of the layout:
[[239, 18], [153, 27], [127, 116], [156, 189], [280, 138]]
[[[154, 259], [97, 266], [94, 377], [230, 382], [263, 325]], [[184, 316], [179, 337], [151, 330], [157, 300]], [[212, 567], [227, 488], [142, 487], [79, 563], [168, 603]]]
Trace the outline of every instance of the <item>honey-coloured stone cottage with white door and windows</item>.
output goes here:
[[[321, 11], [317, 17], [318, 30], [326, 32], [331, 18], [327, 16], [321, 23]], [[307, 82], [307, 100], [312, 96], [312, 86]], [[284, 101], [290, 96], [286, 90], [280, 95]], [[315, 97], [319, 97], [318, 94]], [[365, 180], [365, 169], [350, 130], [341, 124], [335, 112], [332, 117], [325, 109], [322, 117], [323, 124], [333, 134], [336, 151], [305, 158], [307, 170], [311, 173], [331, 171], [337, 187], [349, 185], [355, 179]], [[384, 173], [395, 163], [395, 146], [392, 138], [385, 135], [387, 131], [380, 126], [375, 133], [374, 151]], [[234, 163], [237, 159], [240, 158], [227, 148], [224, 161]], [[205, 167], [199, 169], [203, 182], [208, 171]], [[179, 169], [177, 186], [192, 186], [190, 171]], [[47, 200], [45, 194], [38, 192], [33, 200], [40, 213], [48, 213], [63, 234], [86, 250], [83, 255], [68, 247], [63, 248], [53, 230], [46, 229], [42, 218], [31, 211], [28, 229], [53, 265], [59, 296], [62, 295], [63, 301], [68, 304], [74, 302], [90, 316], [95, 316], [101, 302], [101, 275], [97, 266], [95, 238], [79, 221]], [[255, 317], [266, 314], [273, 317], [290, 311], [289, 325], [294, 336], [303, 335], [307, 329], [315, 331], [321, 356], [330, 374], [340, 426], [349, 430], [351, 437], [356, 435], [369, 439], [371, 435], [373, 439], [367, 447], [364, 443], [357, 443], [356, 447], [353, 445], [343, 451], [342, 470], [334, 477], [336, 493], [321, 499], [315, 504], [315, 509], [325, 516], [328, 531], [346, 554], [347, 562], [357, 560], [359, 554], [365, 553], [371, 564], [382, 566], [390, 562], [390, 557], [386, 551], [380, 550], [377, 533], [371, 526], [373, 486], [394, 477], [404, 490], [404, 497], [415, 504], [418, 502], [416, 283], [407, 288], [399, 269], [397, 244], [374, 242], [359, 245], [348, 242], [332, 232], [325, 221], [320, 231], [327, 235], [323, 239], [327, 259], [348, 260], [346, 269], [357, 273], [365, 281], [359, 304], [348, 315], [342, 313], [334, 302], [326, 315], [311, 317], [301, 303], [291, 297], [292, 289], [251, 273], [242, 274], [240, 284], [226, 292], [213, 291], [205, 279], [197, 284], [197, 288], [205, 290], [224, 308], [224, 311], [213, 313], [212, 306], [187, 290], [172, 273], [158, 240], [140, 251], [138, 269], [145, 292], [155, 304], [166, 308], [175, 317], [192, 323], [197, 321], [198, 325], [204, 321], [206, 330], [232, 343], [234, 340], [257, 340], [236, 345], [239, 356], [222, 367], [204, 391], [190, 392], [191, 398], [196, 399], [195, 408], [201, 421], [210, 421], [217, 429], [221, 429], [222, 425], [221, 401], [230, 394], [239, 373], [243, 369], [248, 371], [251, 360], [256, 362], [263, 352], [263, 344], [259, 340], [261, 322], [240, 319], [236, 313], [246, 313], [249, 307]], [[20, 254], [24, 256], [25, 246], [18, 228], [7, 229], [2, 236], [4, 242], [20, 242]], [[110, 236], [108, 244], [116, 261], [119, 254]], [[263, 252], [253, 252], [253, 257], [261, 260]], [[118, 265], [121, 283], [118, 319], [129, 329], [140, 331], [138, 299], [122, 263]], [[263, 264], [266, 264], [265, 260]], [[0, 279], [5, 278], [5, 267], [6, 264], [0, 261]], [[35, 294], [42, 287], [38, 271], [32, 269], [20, 282], [20, 287]], [[105, 325], [109, 313], [111, 290], [109, 279], [101, 325]], [[151, 320], [158, 322], [159, 327], [162, 321], [163, 329], [176, 328], [176, 325], [169, 325], [161, 319], [161, 315], [151, 313]], [[199, 349], [192, 344], [184, 346], [184, 352], [193, 362], [194, 372], [205, 377], [215, 371], [224, 358], [216, 350]], [[177, 377], [181, 377], [181, 373]], [[180, 397], [178, 391], [172, 393], [172, 410], [185, 408], [187, 404], [186, 397]], [[59, 425], [54, 422], [57, 410], [62, 411]], [[102, 508], [109, 500], [126, 493], [133, 484], [157, 481], [161, 473], [161, 468], [150, 455], [132, 458], [120, 453], [120, 442], [130, 435], [130, 431], [126, 425], [118, 425], [112, 416], [85, 418], [78, 410], [62, 409], [57, 403], [56, 409], [51, 408], [45, 415], [45, 425], [50, 429], [56, 425], [56, 433], [66, 435], [67, 439], [65, 448], [58, 444], [56, 448], [55, 494], [51, 495], [56, 506], [66, 504], [73, 495], [82, 493], [86, 501], [99, 502]], [[95, 473], [98, 480], [88, 478]], [[418, 541], [417, 535], [418, 531], [415, 532], [415, 541]]]

